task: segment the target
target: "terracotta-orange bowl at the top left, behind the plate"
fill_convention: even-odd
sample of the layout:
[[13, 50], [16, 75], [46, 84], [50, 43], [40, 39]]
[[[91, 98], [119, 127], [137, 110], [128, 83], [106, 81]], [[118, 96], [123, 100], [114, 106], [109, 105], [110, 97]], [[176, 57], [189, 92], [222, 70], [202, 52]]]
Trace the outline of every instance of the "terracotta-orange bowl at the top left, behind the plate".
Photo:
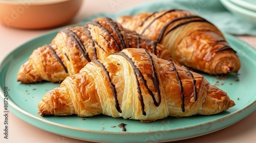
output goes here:
[[0, 0], [0, 21], [21, 29], [44, 29], [70, 21], [82, 0]]

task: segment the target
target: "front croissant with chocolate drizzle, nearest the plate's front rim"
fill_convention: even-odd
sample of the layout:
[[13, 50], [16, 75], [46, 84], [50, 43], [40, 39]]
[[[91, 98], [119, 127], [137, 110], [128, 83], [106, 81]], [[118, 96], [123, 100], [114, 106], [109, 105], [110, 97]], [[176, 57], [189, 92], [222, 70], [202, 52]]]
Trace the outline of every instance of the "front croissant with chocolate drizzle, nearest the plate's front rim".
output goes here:
[[93, 60], [45, 94], [39, 115], [104, 114], [151, 122], [167, 116], [211, 115], [234, 106], [227, 93], [184, 66], [145, 49]]

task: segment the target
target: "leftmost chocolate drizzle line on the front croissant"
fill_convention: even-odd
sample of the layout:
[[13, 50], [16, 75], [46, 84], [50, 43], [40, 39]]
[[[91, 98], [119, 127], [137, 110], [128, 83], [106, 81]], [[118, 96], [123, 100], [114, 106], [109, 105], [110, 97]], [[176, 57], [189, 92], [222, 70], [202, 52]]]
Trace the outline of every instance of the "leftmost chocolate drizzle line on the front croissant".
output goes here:
[[96, 64], [98, 64], [100, 67], [102, 67], [103, 71], [105, 72], [106, 74], [106, 77], [108, 78], [108, 81], [110, 82], [110, 88], [112, 89], [112, 92], [113, 92], [113, 95], [114, 95], [114, 98], [115, 98], [115, 102], [116, 102], [116, 110], [121, 113], [122, 110], [120, 109], [119, 107], [119, 103], [118, 103], [118, 100], [117, 100], [117, 91], [116, 91], [116, 87], [115, 85], [111, 82], [111, 78], [110, 78], [110, 75], [109, 75], [109, 71], [106, 70], [105, 66], [99, 62], [98, 60], [94, 60], [94, 62]]

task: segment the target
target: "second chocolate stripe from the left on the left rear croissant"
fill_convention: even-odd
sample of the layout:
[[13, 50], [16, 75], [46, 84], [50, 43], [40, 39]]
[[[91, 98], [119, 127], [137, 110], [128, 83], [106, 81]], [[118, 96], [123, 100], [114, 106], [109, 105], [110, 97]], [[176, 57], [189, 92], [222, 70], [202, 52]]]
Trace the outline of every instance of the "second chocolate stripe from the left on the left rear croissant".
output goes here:
[[78, 46], [78, 50], [80, 50], [80, 52], [82, 53], [83, 57], [86, 58], [88, 62], [90, 62], [91, 59], [89, 58], [89, 55], [86, 52], [86, 48], [82, 44], [80, 38], [73, 31], [68, 30], [68, 29], [63, 29], [63, 30], [61, 30], [61, 32], [66, 33], [67, 35], [69, 35], [74, 40], [74, 42]]

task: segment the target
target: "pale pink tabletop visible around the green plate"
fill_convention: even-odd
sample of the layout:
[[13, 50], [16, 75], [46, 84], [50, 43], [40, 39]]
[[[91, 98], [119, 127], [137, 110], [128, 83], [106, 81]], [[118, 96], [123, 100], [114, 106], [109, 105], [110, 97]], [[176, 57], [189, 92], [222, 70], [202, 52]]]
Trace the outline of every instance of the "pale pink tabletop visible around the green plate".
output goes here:
[[[146, 2], [146, 0], [118, 1], [118, 5], [111, 7], [110, 1], [86, 1], [83, 3], [79, 13], [66, 25], [77, 23], [80, 20], [99, 12], [114, 13], [125, 8]], [[4, 59], [17, 46], [40, 36], [52, 29], [46, 30], [22, 30], [13, 29], [0, 25], [0, 61]], [[256, 47], [255, 36], [239, 36], [242, 40]], [[4, 138], [4, 105], [0, 103], [0, 142], [87, 142], [69, 137], [53, 134], [36, 128], [16, 117], [9, 112], [9, 138]], [[174, 142], [255, 142], [256, 140], [256, 111], [245, 117], [240, 122], [214, 133]]]

